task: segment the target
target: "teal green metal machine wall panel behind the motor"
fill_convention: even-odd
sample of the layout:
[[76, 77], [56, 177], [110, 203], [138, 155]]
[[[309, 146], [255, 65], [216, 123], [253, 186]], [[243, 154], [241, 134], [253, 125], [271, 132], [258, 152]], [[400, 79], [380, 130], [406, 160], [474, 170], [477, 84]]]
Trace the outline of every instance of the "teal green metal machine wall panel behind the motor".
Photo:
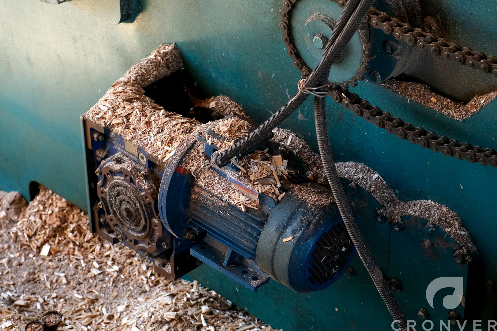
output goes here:
[[[1, 190], [27, 196], [29, 182], [36, 181], [87, 209], [79, 116], [161, 43], [175, 41], [186, 68], [208, 94], [229, 95], [255, 120], [266, 119], [297, 89], [300, 73], [281, 42], [280, 0], [148, 0], [134, 23], [117, 26], [93, 18], [79, 8], [80, 1], [0, 3]], [[458, 26], [466, 24], [464, 29], [451, 31], [454, 40], [497, 53], [493, 38], [497, 9], [491, 1], [474, 0], [471, 7], [462, 0], [434, 2]], [[485, 10], [472, 10], [468, 15], [471, 8]], [[361, 82], [354, 92], [417, 126], [497, 149], [495, 100], [472, 118], [458, 122], [370, 82]], [[316, 147], [312, 109], [309, 100], [283, 126]], [[401, 199], [433, 199], [452, 208], [485, 260], [483, 277], [497, 279], [495, 168], [421, 149], [335, 104], [328, 106], [328, 114], [338, 161], [367, 164], [398, 190]], [[363, 224], [371, 226], [366, 240], [385, 265], [390, 231], [372, 220]], [[406, 254], [420, 253], [408, 246]], [[453, 262], [440, 265], [453, 267]], [[206, 267], [192, 276], [288, 331], [310, 330], [311, 326], [312, 330], [385, 330], [388, 312], [357, 259], [353, 267], [356, 276], [342, 277], [328, 290], [311, 295], [295, 294], [275, 282], [254, 294]], [[403, 283], [417, 281], [413, 274], [402, 277]], [[415, 316], [420, 307], [406, 308], [408, 316]]]

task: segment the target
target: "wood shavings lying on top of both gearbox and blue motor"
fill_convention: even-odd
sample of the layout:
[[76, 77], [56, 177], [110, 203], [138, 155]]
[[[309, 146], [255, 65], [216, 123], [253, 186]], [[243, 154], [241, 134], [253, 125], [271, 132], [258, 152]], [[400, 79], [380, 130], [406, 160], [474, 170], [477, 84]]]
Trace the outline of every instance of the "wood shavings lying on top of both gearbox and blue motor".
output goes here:
[[[207, 128], [213, 129], [214, 132], [228, 139], [224, 141], [209, 138], [210, 142], [220, 149], [231, 146], [234, 141], [247, 135], [251, 126], [247, 121], [238, 117], [227, 117], [202, 125], [195, 119], [166, 112], [163, 107], [155, 104], [154, 100], [144, 95], [143, 88], [145, 86], [182, 68], [182, 66], [179, 52], [174, 49], [174, 44], [162, 45], [118, 79], [98, 103], [83, 115], [83, 118], [106, 127], [133, 144], [142, 147], [149, 158], [157, 159], [163, 166], [167, 165], [168, 160], [183, 141], [197, 133], [202, 134], [201, 132], [205, 132]], [[213, 109], [215, 115], [236, 115], [248, 118], [243, 108], [227, 96], [218, 96], [207, 100], [194, 99], [193, 101], [196, 105]], [[210, 161], [206, 162], [205, 154], [200, 154], [198, 160], [189, 158], [191, 166], [194, 168], [191, 170], [192, 173], [198, 173], [196, 177], [203, 180], [204, 185], [222, 182], [223, 180], [219, 175], [208, 169]], [[254, 153], [256, 157], [262, 157], [263, 154], [263, 152]], [[268, 194], [277, 200], [283, 192], [273, 189], [272, 185], [268, 183], [255, 182], [259, 178], [274, 177], [273, 170], [275, 169], [258, 167], [259, 162], [257, 162], [256, 157], [254, 158], [254, 155], [248, 156], [240, 162], [242, 172], [247, 176], [234, 174], [233, 177], [252, 187], [254, 191]], [[271, 156], [265, 157], [265, 159], [270, 162]], [[201, 167], [207, 169], [204, 176], [200, 176], [201, 168], [196, 168], [199, 167], [200, 163]], [[248, 170], [243, 168], [245, 165], [249, 167]], [[277, 176], [281, 176], [282, 170], [280, 168], [276, 169]], [[283, 169], [283, 177], [286, 175], [285, 168]], [[279, 178], [275, 178], [275, 183], [279, 180]], [[256, 205], [250, 200], [245, 200], [245, 196], [239, 191], [232, 190], [229, 183], [221, 183], [216, 187], [219, 187], [218, 191], [224, 194], [221, 197], [233, 202], [242, 210], [246, 207], [256, 208]]]

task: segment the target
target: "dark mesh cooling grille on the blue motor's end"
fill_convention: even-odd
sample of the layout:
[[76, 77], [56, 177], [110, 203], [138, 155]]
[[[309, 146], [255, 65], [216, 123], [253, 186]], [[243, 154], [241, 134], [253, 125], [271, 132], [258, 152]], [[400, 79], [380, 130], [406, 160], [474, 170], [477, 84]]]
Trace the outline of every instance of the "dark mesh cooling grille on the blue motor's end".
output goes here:
[[330, 282], [333, 276], [340, 273], [347, 265], [352, 251], [352, 240], [345, 224], [333, 225], [313, 246], [307, 269], [309, 282], [313, 286], [321, 286]]

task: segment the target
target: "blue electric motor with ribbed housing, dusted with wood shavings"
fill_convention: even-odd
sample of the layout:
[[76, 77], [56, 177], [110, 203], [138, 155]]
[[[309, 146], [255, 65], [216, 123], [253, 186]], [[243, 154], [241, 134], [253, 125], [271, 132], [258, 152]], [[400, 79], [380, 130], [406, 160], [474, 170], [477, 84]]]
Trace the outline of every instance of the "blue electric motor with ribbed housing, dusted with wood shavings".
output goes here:
[[[252, 290], [269, 278], [297, 292], [331, 285], [355, 251], [331, 191], [296, 176], [281, 183], [285, 195], [278, 201], [235, 180], [239, 169], [233, 164], [210, 165], [217, 181], [210, 187], [198, 185], [185, 160], [198, 149], [211, 157], [217, 147], [209, 144], [210, 134], [207, 130], [184, 142], [168, 162], [159, 190], [159, 212], [166, 229], [192, 244], [192, 256]], [[302, 164], [275, 142], [257, 148], [283, 155], [297, 168]], [[216, 194], [215, 187], [226, 183], [242, 192], [252, 191], [259, 207], [244, 212]]]

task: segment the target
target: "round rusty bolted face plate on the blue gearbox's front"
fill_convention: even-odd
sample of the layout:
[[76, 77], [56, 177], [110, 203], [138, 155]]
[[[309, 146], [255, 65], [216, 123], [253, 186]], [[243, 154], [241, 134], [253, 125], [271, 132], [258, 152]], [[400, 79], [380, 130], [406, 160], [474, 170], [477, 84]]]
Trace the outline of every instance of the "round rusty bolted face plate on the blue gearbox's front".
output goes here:
[[155, 174], [130, 164], [114, 161], [105, 164], [98, 183], [98, 198], [110, 235], [134, 250], [152, 253], [162, 236], [155, 203], [158, 192], [150, 180]]

